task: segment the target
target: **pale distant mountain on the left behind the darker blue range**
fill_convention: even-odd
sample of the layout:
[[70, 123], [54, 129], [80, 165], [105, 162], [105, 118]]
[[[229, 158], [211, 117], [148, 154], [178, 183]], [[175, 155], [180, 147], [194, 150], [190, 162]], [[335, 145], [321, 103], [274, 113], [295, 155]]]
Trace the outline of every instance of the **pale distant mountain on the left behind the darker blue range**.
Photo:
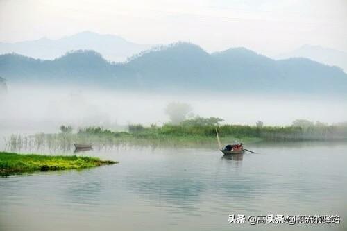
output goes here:
[[4, 43], [0, 42], [0, 54], [18, 53], [33, 58], [53, 60], [73, 50], [94, 50], [107, 60], [123, 62], [136, 53], [149, 49], [149, 45], [128, 42], [115, 35], [99, 35], [85, 31], [59, 40], [40, 40]]

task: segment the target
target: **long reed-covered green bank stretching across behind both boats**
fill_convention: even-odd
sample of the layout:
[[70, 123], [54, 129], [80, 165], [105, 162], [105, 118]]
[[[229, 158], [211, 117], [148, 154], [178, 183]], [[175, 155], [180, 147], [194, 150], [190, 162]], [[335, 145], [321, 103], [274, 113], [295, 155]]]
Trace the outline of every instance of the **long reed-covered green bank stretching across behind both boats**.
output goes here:
[[[63, 129], [62, 129], [63, 128]], [[73, 132], [70, 126], [62, 126], [56, 134], [36, 134], [29, 136], [12, 135], [6, 139], [8, 150], [49, 150], [71, 151], [73, 143], [93, 144], [98, 148], [117, 146], [180, 146], [217, 147], [216, 130], [222, 144], [238, 140], [244, 144], [255, 142], [301, 142], [301, 141], [341, 141], [347, 140], [347, 125], [326, 126], [243, 126], [243, 125], [199, 125], [182, 123], [163, 126], [128, 126], [127, 132], [119, 132], [101, 127], [79, 128]]]

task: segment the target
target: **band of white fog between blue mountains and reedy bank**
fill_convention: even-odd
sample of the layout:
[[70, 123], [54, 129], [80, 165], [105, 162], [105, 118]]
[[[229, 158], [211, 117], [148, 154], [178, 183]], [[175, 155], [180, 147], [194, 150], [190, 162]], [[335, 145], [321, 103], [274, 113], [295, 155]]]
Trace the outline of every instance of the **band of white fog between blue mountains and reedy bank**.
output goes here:
[[87, 87], [10, 85], [1, 99], [0, 130], [56, 132], [62, 124], [121, 129], [130, 123], [162, 125], [170, 102], [189, 103], [190, 116], [221, 117], [224, 123], [290, 125], [295, 119], [323, 123], [347, 120], [346, 99], [327, 96], [244, 94], [162, 94], [117, 92]]

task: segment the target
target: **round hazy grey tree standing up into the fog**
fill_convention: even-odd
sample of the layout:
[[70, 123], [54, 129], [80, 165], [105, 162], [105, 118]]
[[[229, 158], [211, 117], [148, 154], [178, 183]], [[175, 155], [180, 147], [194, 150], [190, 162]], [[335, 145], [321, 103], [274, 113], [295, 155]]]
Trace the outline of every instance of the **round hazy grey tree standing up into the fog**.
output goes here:
[[165, 113], [169, 116], [171, 123], [178, 124], [187, 119], [187, 114], [192, 112], [193, 108], [187, 103], [169, 103], [165, 108]]

